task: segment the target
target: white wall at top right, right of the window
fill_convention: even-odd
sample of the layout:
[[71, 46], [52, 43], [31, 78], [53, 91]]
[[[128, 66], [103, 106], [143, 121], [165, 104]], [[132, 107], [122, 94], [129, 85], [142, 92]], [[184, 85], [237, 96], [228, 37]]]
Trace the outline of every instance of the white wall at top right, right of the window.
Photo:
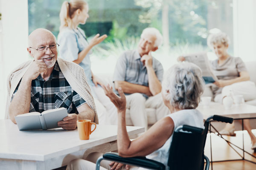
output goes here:
[[234, 56], [256, 61], [256, 0], [233, 0]]

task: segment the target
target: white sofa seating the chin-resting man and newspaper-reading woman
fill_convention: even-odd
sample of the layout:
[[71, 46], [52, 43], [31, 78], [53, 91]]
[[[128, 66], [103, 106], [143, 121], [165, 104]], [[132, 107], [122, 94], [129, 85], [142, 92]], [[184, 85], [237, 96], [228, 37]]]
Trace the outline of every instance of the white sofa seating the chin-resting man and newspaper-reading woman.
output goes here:
[[[256, 83], [256, 74], [255, 74], [256, 73], [256, 61], [255, 62], [245, 62], [245, 65], [247, 67], [247, 70], [249, 71], [250, 80]], [[99, 76], [99, 78], [102, 79], [105, 84], [110, 84], [114, 88], [113, 80], [112, 80], [113, 75], [111, 75], [111, 74], [100, 74], [100, 75], [97, 75], [97, 76]], [[212, 92], [210, 91], [209, 88], [205, 89], [203, 96], [212, 96]], [[256, 105], [256, 99], [252, 100], [252, 101], [248, 101], [246, 103], [250, 104], [250, 105]], [[155, 122], [157, 122], [156, 109], [155, 108], [146, 108], [146, 112], [147, 112], [147, 115], [148, 115], [148, 126], [151, 126]], [[256, 120], [253, 123], [254, 123], [255, 128], [256, 128]], [[126, 124], [127, 125], [133, 125], [132, 122], [131, 122], [130, 110], [129, 109], [126, 109]], [[224, 127], [224, 125], [222, 125], [220, 127]]]

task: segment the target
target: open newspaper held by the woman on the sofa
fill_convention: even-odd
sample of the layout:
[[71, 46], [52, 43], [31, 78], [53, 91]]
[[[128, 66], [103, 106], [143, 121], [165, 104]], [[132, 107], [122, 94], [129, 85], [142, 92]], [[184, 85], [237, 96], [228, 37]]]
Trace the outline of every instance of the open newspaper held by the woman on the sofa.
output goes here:
[[213, 74], [206, 52], [186, 54], [183, 55], [183, 57], [185, 58], [185, 61], [192, 62], [201, 68], [205, 84], [213, 83], [218, 80], [215, 74]]

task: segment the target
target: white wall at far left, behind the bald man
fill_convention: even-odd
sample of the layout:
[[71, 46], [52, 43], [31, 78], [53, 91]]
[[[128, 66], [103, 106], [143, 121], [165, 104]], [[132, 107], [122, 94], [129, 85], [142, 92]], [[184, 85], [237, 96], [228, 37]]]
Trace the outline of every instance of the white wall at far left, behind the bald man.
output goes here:
[[20, 63], [29, 59], [26, 51], [28, 38], [28, 1], [0, 0], [2, 32], [0, 32], [0, 119], [6, 105], [6, 79]]

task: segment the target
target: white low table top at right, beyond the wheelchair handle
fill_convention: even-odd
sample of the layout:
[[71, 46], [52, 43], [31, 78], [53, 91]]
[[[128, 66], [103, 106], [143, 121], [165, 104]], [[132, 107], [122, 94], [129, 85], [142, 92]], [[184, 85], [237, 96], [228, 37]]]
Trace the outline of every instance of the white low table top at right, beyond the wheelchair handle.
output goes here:
[[216, 102], [211, 102], [209, 107], [205, 107], [199, 103], [196, 109], [204, 115], [204, 119], [214, 114], [232, 117], [233, 119], [256, 118], [256, 106], [247, 104], [232, 105], [230, 109], [225, 109], [224, 105]]

